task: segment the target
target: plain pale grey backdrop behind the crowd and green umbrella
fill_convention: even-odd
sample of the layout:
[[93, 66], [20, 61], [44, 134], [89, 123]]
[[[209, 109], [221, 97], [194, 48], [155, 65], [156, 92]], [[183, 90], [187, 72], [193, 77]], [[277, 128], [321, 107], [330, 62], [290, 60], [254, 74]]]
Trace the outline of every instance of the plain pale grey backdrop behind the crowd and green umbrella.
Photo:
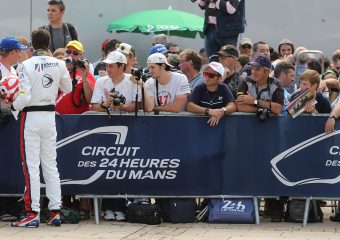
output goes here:
[[[32, 2], [32, 20], [30, 3]], [[65, 21], [73, 23], [84, 43], [86, 56], [95, 61], [100, 55], [100, 45], [106, 38], [118, 38], [131, 43], [137, 50], [141, 65], [145, 64], [151, 47], [152, 35], [135, 33], [108, 33], [110, 22], [129, 13], [149, 10], [173, 9], [203, 16], [203, 11], [190, 0], [64, 0]], [[24, 35], [29, 37], [30, 23], [35, 29], [47, 24], [46, 0], [11, 0], [1, 4], [0, 37]], [[247, 0], [246, 31], [242, 36], [253, 42], [267, 41], [274, 49], [287, 38], [295, 46], [321, 50], [327, 57], [340, 49], [338, 31], [340, 1], [338, 0]], [[203, 40], [171, 37], [181, 48], [198, 51]]]

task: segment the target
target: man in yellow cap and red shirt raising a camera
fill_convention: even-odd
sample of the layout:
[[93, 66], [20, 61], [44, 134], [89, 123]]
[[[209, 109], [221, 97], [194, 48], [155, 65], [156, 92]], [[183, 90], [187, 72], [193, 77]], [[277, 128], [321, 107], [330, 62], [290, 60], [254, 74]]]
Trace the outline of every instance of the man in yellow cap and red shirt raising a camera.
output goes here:
[[60, 92], [56, 111], [60, 114], [81, 114], [90, 111], [90, 102], [96, 80], [89, 72], [89, 64], [84, 59], [81, 42], [70, 41], [65, 48], [66, 67], [72, 79], [72, 92]]

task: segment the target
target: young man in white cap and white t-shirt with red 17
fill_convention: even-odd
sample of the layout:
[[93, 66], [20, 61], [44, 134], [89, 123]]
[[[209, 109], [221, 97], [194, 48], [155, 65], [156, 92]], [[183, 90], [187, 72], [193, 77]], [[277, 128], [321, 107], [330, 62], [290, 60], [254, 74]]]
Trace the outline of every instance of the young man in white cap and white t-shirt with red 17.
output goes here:
[[170, 72], [172, 66], [161, 53], [151, 54], [147, 64], [151, 78], [145, 82], [145, 110], [155, 113], [183, 111], [190, 94], [187, 77]]

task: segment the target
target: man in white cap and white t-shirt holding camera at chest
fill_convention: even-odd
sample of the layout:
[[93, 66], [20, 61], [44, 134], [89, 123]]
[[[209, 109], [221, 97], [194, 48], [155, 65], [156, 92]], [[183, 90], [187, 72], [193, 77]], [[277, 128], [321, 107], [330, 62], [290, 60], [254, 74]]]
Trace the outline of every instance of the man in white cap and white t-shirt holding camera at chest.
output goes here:
[[136, 94], [141, 99], [140, 87], [124, 73], [127, 60], [119, 51], [111, 52], [103, 61], [106, 63], [107, 76], [97, 80], [91, 100], [93, 111], [135, 110]]

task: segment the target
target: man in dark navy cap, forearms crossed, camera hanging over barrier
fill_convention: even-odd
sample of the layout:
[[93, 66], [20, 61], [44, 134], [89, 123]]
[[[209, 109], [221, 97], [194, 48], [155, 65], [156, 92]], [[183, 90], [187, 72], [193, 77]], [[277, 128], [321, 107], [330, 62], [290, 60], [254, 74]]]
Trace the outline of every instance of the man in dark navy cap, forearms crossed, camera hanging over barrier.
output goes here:
[[[284, 90], [282, 83], [270, 78], [270, 59], [258, 56], [250, 62], [251, 77], [242, 83], [237, 92], [236, 105], [239, 112], [259, 112], [269, 116], [269, 113], [279, 115], [284, 104]], [[262, 119], [261, 119], [262, 120]]]

